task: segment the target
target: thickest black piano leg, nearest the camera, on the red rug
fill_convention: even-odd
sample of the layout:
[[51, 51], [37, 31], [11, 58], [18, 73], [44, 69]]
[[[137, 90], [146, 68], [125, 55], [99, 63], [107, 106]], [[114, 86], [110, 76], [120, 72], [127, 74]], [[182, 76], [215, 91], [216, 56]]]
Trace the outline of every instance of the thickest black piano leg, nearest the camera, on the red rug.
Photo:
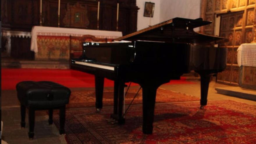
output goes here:
[[154, 86], [142, 87], [142, 102], [143, 102], [143, 126], [144, 134], [152, 134], [154, 122], [154, 109], [156, 102], [157, 88]]

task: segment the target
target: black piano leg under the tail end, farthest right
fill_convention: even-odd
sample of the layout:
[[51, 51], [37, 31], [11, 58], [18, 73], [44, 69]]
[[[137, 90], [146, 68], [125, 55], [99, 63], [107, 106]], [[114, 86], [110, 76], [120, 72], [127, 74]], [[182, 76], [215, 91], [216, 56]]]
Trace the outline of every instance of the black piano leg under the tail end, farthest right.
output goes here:
[[207, 105], [207, 95], [209, 89], [209, 82], [211, 74], [208, 72], [198, 72], [201, 77], [201, 100], [200, 100], [200, 109], [203, 109]]

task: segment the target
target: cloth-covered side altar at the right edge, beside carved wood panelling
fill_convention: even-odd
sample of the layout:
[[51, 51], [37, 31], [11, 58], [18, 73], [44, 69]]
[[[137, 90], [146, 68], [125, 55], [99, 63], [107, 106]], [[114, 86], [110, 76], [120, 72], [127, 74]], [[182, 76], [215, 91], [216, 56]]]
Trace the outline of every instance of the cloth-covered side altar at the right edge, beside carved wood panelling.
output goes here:
[[240, 67], [239, 86], [256, 89], [256, 43], [241, 44], [237, 49]]

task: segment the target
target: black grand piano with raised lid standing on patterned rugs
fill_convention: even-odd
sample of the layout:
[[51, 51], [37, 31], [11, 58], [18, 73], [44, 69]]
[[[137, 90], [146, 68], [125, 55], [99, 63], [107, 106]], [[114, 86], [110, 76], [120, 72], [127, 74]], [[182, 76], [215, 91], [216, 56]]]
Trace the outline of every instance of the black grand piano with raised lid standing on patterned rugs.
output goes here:
[[83, 54], [72, 59], [71, 68], [95, 75], [97, 109], [102, 108], [104, 78], [114, 80], [111, 118], [119, 124], [125, 122], [122, 115], [125, 82], [138, 83], [143, 95], [143, 133], [152, 134], [156, 92], [162, 84], [194, 70], [201, 77], [200, 108], [207, 104], [211, 74], [226, 67], [227, 49], [216, 44], [228, 41], [193, 31], [210, 23], [201, 18], [177, 17], [112, 43], [84, 42]]

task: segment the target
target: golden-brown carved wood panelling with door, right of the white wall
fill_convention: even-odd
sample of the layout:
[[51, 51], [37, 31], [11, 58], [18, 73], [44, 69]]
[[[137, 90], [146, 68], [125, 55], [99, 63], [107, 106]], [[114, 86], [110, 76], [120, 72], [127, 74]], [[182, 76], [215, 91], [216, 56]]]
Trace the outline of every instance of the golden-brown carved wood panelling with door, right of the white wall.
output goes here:
[[[239, 67], [237, 65], [237, 48], [242, 43], [253, 41], [253, 23], [255, 19], [255, 0], [202, 0], [201, 16], [214, 23], [214, 16], [221, 16], [220, 36], [229, 39], [221, 47], [227, 51], [227, 67], [218, 73], [218, 82], [238, 85]], [[213, 34], [214, 25], [204, 26], [201, 31]]]

